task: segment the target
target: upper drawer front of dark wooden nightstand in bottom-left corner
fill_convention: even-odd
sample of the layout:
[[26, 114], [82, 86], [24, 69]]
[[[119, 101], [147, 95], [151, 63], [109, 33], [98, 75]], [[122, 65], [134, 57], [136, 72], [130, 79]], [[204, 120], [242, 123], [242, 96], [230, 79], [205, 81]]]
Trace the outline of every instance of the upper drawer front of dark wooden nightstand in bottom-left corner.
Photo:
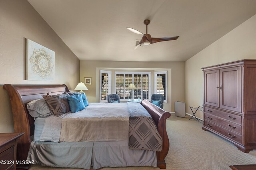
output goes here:
[[14, 146], [0, 153], [0, 160], [4, 161], [4, 164], [1, 164], [1, 170], [6, 170], [14, 164]]

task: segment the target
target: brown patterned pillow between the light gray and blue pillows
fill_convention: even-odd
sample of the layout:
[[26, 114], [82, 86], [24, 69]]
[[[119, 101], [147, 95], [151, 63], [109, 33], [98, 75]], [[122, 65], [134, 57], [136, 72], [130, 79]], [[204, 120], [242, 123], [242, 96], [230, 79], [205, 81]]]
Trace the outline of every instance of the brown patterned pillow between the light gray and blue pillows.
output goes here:
[[70, 111], [66, 95], [46, 95], [43, 97], [55, 116], [60, 116]]

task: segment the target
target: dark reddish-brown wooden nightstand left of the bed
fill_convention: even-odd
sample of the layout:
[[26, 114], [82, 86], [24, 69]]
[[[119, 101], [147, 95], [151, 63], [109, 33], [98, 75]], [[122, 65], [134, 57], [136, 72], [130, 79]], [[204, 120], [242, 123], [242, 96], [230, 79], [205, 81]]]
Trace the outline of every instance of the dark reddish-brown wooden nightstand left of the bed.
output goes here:
[[16, 170], [17, 142], [24, 133], [0, 133], [0, 169]]

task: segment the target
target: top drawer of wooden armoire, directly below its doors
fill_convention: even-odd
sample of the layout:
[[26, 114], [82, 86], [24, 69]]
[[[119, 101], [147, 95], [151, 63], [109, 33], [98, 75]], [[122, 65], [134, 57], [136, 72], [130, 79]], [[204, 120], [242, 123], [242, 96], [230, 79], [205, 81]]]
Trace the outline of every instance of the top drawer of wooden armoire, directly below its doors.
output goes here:
[[209, 108], [209, 107], [204, 107], [204, 112], [210, 113], [211, 115], [214, 115], [216, 117], [220, 117], [222, 119], [226, 119], [227, 121], [242, 125], [242, 116], [238, 116], [238, 115], [228, 113], [228, 112], [224, 112], [224, 111], [219, 111], [219, 110], [212, 109], [212, 108]]

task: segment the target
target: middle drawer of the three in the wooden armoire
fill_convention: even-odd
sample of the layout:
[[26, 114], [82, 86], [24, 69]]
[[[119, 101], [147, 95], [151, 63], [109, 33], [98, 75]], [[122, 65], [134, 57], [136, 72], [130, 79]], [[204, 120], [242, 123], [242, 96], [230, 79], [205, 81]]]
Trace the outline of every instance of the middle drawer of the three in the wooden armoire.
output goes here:
[[209, 113], [204, 113], [204, 120], [216, 123], [217, 125], [220, 125], [222, 127], [225, 127], [229, 130], [233, 130], [239, 134], [242, 134], [242, 126], [235, 124], [233, 122], [230, 121], [226, 121], [224, 119], [220, 119], [219, 117], [216, 117], [214, 115], [211, 115]]

